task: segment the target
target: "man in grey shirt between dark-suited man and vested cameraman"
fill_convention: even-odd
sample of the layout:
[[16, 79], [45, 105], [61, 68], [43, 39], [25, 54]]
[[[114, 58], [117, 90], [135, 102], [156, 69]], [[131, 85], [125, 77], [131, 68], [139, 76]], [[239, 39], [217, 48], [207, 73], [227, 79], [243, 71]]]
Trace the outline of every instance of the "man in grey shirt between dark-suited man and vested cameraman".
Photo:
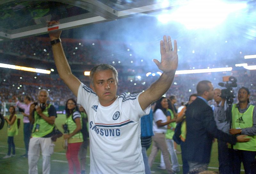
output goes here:
[[[220, 131], [225, 133], [229, 133], [229, 122], [226, 116], [226, 99], [221, 98], [221, 90], [220, 88], [214, 89], [213, 99], [215, 101], [215, 107], [213, 111], [214, 120], [216, 122], [216, 126]], [[229, 174], [229, 160], [228, 158], [228, 146], [225, 141], [218, 139], [218, 160], [219, 160], [219, 172], [220, 174]]]

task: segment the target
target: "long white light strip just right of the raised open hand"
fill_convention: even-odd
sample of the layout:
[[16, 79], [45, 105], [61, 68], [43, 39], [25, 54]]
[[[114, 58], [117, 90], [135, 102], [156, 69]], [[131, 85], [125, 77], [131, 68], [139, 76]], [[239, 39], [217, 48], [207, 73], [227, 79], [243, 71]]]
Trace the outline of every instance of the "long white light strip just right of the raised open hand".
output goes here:
[[225, 72], [225, 71], [232, 71], [232, 67], [178, 70], [178, 71], [176, 71], [175, 75], [178, 75], [178, 74]]

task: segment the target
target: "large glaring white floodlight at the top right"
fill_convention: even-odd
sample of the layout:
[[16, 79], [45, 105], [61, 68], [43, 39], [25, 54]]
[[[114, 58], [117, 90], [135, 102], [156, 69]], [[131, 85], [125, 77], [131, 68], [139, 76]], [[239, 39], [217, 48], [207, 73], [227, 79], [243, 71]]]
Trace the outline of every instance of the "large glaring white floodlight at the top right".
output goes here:
[[188, 29], [213, 28], [226, 20], [231, 12], [246, 6], [246, 3], [225, 3], [220, 0], [191, 0], [177, 6], [173, 12], [159, 15], [158, 20], [163, 23], [174, 20]]

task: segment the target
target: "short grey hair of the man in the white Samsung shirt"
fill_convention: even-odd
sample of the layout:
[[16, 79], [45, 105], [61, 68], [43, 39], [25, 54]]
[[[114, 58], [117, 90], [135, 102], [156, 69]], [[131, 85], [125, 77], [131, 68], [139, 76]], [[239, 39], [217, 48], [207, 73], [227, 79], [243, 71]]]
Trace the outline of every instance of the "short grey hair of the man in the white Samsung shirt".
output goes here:
[[115, 78], [116, 78], [116, 83], [118, 83], [118, 73], [116, 71], [116, 68], [113, 67], [112, 65], [108, 65], [108, 64], [100, 64], [100, 65], [96, 65], [95, 67], [93, 67], [91, 69], [91, 72], [90, 72], [90, 83], [93, 85], [93, 75], [96, 73], [96, 72], [99, 72], [99, 71], [105, 71], [105, 70], [112, 70], [114, 75], [115, 75]]

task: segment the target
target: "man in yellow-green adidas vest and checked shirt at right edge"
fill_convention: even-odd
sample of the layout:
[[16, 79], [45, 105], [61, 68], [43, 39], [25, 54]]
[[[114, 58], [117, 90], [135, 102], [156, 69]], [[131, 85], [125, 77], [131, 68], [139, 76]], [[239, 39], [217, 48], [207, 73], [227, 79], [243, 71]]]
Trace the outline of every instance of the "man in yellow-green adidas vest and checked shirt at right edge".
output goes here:
[[256, 107], [250, 105], [250, 91], [246, 87], [238, 90], [238, 104], [232, 106], [232, 135], [248, 135], [251, 138], [246, 143], [236, 143], [231, 151], [231, 167], [233, 174], [239, 174], [241, 162], [244, 165], [245, 174], [252, 173], [252, 163], [256, 156]]

